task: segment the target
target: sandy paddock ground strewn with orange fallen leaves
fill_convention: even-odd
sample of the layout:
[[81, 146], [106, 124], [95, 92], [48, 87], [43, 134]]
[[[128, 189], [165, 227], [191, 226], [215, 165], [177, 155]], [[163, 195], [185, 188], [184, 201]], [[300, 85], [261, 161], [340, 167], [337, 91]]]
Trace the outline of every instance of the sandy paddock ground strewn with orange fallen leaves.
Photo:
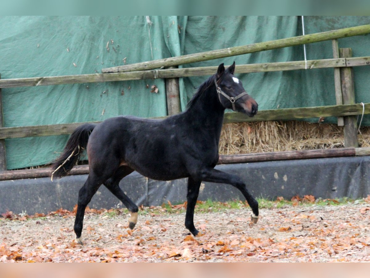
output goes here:
[[128, 214], [85, 214], [74, 242], [74, 215], [63, 210], [32, 219], [0, 218], [1, 262], [364, 262], [370, 261], [367, 202], [286, 206], [195, 214], [202, 235], [184, 226], [185, 210], [141, 212], [134, 230]]

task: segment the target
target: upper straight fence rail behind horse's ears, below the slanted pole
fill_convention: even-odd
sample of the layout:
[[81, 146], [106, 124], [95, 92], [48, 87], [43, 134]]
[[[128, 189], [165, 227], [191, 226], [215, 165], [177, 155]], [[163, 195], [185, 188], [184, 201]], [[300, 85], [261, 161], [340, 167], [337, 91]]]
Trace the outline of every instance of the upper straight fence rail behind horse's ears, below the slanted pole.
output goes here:
[[[307, 60], [307, 68], [321, 69], [327, 67], [345, 67], [346, 65], [351, 67], [366, 66], [369, 64], [369, 61], [370, 57]], [[305, 68], [306, 68], [305, 61], [243, 64], [237, 65], [235, 67], [235, 73], [275, 72], [280, 70], [299, 70]], [[65, 75], [65, 76], [1, 79], [0, 88], [62, 85], [62, 84], [92, 83], [92, 82], [113, 82], [139, 79], [177, 78], [188, 76], [213, 75], [216, 71], [217, 66], [211, 66], [211, 67], [193, 67], [183, 69], [145, 70], [137, 72], [100, 73], [91, 75]]]

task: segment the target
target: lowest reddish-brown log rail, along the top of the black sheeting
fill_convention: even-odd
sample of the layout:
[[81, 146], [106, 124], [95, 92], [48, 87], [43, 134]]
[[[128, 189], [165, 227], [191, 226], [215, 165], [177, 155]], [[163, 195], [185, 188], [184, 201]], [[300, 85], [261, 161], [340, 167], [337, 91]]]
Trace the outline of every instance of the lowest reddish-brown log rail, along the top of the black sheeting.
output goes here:
[[[248, 153], [245, 155], [220, 155], [218, 164], [364, 155], [370, 155], [370, 148], [293, 150], [288, 152]], [[74, 166], [69, 175], [86, 175], [88, 173], [88, 165], [77, 165]], [[50, 168], [0, 171], [0, 181], [11, 179], [46, 178], [50, 176]]]

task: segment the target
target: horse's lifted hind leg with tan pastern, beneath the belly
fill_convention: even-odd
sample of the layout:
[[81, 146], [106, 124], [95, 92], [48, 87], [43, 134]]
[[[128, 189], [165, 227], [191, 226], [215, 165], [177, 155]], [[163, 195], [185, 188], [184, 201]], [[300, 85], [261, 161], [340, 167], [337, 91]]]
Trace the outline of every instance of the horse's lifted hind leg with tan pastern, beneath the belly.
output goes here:
[[131, 212], [131, 216], [128, 219], [129, 228], [131, 230], [134, 229], [137, 223], [139, 208], [122, 191], [122, 189], [119, 186], [119, 183], [121, 179], [123, 179], [125, 176], [129, 175], [132, 172], [134, 172], [134, 169], [128, 166], [121, 166], [120, 168], [117, 169], [117, 171], [114, 173], [114, 175], [111, 178], [109, 178], [106, 182], [104, 182], [105, 187], [107, 187], [109, 191], [112, 192], [114, 196], [116, 196], [126, 206], [129, 212]]

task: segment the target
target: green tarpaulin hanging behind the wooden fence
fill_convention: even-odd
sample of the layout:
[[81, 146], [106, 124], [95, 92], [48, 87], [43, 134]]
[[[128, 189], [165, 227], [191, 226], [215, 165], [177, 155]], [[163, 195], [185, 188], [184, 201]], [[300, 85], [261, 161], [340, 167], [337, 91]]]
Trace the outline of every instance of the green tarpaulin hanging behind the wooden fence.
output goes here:
[[[370, 17], [305, 17], [305, 32], [369, 24]], [[145, 62], [302, 35], [297, 16], [3, 16], [2, 79], [100, 73], [102, 68]], [[353, 56], [370, 56], [370, 36], [339, 39]], [[331, 42], [306, 46], [307, 59], [332, 58]], [[245, 54], [192, 66], [304, 60], [303, 46]], [[370, 73], [354, 68], [356, 102], [370, 102]], [[239, 75], [259, 109], [334, 105], [333, 69]], [[180, 79], [181, 107], [207, 77]], [[151, 92], [151, 86], [158, 93]], [[164, 80], [86, 83], [2, 89], [4, 126], [104, 120], [117, 115], [165, 116]], [[329, 119], [334, 122], [335, 119]], [[365, 117], [363, 125], [370, 125]], [[7, 168], [53, 160], [68, 136], [6, 139]]]

